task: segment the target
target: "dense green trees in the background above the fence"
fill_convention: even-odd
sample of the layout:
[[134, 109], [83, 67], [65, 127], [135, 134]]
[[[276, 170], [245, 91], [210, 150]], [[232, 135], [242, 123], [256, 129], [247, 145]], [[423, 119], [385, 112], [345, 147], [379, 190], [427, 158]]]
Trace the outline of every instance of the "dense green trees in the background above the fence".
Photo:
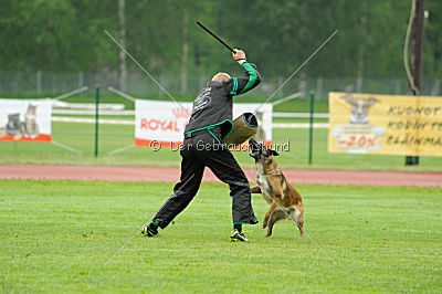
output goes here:
[[[2, 0], [0, 70], [131, 71], [116, 40], [152, 73], [232, 69], [201, 21], [267, 76], [403, 77], [411, 0]], [[442, 77], [442, 1], [425, 1], [423, 77]], [[123, 23], [122, 23], [123, 18]], [[122, 28], [124, 25], [124, 28]], [[124, 30], [122, 30], [124, 29]], [[122, 35], [122, 33], [124, 33]]]

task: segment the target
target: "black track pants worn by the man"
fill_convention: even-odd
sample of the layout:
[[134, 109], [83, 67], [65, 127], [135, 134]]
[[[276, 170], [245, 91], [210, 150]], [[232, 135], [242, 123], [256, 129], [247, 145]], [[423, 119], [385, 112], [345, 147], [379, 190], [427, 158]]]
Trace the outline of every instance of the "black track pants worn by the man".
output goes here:
[[[211, 129], [220, 138], [220, 129]], [[152, 221], [165, 229], [197, 195], [204, 168], [230, 187], [233, 223], [257, 223], [251, 203], [249, 181], [231, 151], [219, 144], [208, 130], [183, 141], [180, 155], [181, 177], [173, 195], [162, 204]]]

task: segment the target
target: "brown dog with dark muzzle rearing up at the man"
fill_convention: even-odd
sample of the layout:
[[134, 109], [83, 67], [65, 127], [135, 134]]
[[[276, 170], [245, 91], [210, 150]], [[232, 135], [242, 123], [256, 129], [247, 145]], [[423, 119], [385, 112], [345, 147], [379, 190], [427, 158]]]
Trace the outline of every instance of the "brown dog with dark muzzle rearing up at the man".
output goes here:
[[278, 154], [269, 149], [253, 138], [249, 140], [250, 156], [256, 162], [256, 187], [250, 189], [251, 193], [262, 193], [270, 203], [265, 213], [263, 228], [269, 227], [265, 237], [272, 235], [273, 225], [284, 219], [292, 219], [299, 229], [301, 238], [304, 235], [304, 207], [303, 199], [296, 189], [287, 182], [273, 158]]

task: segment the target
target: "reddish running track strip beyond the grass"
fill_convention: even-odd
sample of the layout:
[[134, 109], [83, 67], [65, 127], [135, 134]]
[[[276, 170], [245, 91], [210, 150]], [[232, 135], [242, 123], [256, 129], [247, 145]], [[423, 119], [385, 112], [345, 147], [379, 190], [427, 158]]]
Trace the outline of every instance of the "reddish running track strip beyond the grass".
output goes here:
[[[250, 181], [255, 170], [244, 169]], [[442, 187], [442, 172], [285, 169], [294, 183]], [[0, 165], [0, 179], [177, 181], [177, 167]], [[206, 169], [204, 181], [218, 181]]]

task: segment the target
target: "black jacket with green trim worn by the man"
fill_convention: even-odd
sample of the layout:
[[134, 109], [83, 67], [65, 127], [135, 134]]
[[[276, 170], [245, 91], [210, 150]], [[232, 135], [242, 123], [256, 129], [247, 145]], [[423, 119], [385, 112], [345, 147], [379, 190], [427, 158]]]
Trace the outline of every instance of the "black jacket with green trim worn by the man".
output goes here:
[[244, 94], [261, 83], [256, 65], [244, 62], [244, 77], [233, 77], [224, 82], [211, 81], [193, 102], [192, 115], [186, 133], [222, 126], [222, 138], [232, 130], [233, 96]]

